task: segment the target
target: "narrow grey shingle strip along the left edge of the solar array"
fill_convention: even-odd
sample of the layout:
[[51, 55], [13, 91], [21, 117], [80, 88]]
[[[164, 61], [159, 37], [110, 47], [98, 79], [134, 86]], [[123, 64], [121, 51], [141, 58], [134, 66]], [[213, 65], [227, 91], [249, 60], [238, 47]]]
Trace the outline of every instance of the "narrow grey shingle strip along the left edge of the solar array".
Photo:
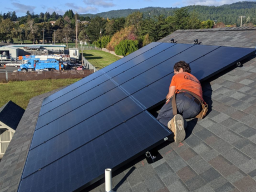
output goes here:
[[29, 101], [27, 109], [0, 162], [0, 192], [17, 191], [42, 101], [45, 97], [60, 89], [33, 97]]

